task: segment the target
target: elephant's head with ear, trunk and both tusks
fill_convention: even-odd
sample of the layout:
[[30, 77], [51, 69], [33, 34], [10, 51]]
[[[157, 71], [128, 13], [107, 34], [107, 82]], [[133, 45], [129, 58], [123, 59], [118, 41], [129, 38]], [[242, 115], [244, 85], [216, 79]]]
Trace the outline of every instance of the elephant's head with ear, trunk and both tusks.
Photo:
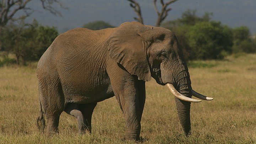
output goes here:
[[109, 38], [110, 57], [121, 64], [138, 80], [153, 77], [160, 85], [167, 85], [175, 95], [178, 118], [186, 135], [190, 134], [190, 104], [213, 98], [192, 90], [190, 75], [182, 50], [174, 33], [161, 27], [126, 22]]

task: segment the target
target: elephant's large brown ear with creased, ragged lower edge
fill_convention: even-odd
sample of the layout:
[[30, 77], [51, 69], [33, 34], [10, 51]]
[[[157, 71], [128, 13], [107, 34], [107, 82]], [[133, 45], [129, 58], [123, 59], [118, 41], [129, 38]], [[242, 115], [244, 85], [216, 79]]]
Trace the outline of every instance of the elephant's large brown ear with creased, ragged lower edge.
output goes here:
[[121, 64], [139, 80], [150, 81], [151, 74], [145, 42], [139, 33], [145, 30], [140, 23], [124, 23], [109, 38], [108, 52], [112, 59]]

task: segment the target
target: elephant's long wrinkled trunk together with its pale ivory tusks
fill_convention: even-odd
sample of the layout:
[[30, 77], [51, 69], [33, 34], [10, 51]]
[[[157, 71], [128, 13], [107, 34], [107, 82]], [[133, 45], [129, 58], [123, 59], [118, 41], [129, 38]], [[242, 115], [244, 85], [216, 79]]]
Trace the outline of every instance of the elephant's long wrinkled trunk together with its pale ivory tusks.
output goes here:
[[[174, 62], [175, 63], [175, 62]], [[177, 66], [172, 70], [162, 70], [162, 80], [175, 96], [178, 118], [186, 134], [190, 135], [190, 105], [191, 102], [201, 102], [202, 100], [192, 99], [192, 87], [188, 68], [184, 60], [179, 59]], [[167, 67], [167, 66], [166, 66]], [[171, 73], [172, 72], [172, 73]], [[195, 92], [194, 92], [195, 93]], [[199, 95], [199, 94], [198, 94]], [[201, 96], [204, 97], [204, 96]], [[209, 99], [204, 97], [204, 99]]]

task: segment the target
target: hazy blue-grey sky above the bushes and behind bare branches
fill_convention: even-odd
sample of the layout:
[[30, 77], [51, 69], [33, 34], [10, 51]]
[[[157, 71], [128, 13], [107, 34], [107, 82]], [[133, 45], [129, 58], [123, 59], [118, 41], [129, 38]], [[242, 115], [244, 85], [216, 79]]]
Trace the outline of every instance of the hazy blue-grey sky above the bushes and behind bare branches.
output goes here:
[[[167, 0], [165, 0], [167, 1]], [[42, 25], [57, 27], [60, 33], [72, 28], [82, 27], [85, 23], [103, 20], [113, 26], [119, 26], [126, 21], [134, 21], [136, 17], [127, 0], [61, 0], [62, 4], [69, 9], [61, 9], [62, 17], [52, 15], [42, 8], [41, 2], [33, 0], [28, 6], [36, 10], [27, 21], [34, 18]], [[137, 0], [141, 6], [144, 24], [155, 25], [157, 14], [154, 10], [153, 0]], [[159, 9], [160, 9], [160, 2]], [[197, 15], [202, 16], [205, 12], [212, 12], [212, 20], [221, 21], [224, 25], [232, 28], [247, 26], [252, 34], [256, 34], [256, 0], [178, 0], [169, 5], [166, 21], [180, 18], [186, 10], [197, 10]]]

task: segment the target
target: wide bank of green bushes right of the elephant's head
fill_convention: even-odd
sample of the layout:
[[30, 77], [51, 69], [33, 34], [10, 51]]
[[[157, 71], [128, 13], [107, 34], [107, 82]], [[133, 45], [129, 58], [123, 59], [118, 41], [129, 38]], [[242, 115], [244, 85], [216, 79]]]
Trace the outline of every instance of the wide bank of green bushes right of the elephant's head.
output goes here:
[[199, 17], [196, 10], [187, 10], [181, 18], [162, 25], [175, 33], [185, 59], [223, 59], [231, 53], [256, 52], [256, 41], [250, 38], [249, 28], [232, 29], [211, 21], [211, 15], [206, 12]]

